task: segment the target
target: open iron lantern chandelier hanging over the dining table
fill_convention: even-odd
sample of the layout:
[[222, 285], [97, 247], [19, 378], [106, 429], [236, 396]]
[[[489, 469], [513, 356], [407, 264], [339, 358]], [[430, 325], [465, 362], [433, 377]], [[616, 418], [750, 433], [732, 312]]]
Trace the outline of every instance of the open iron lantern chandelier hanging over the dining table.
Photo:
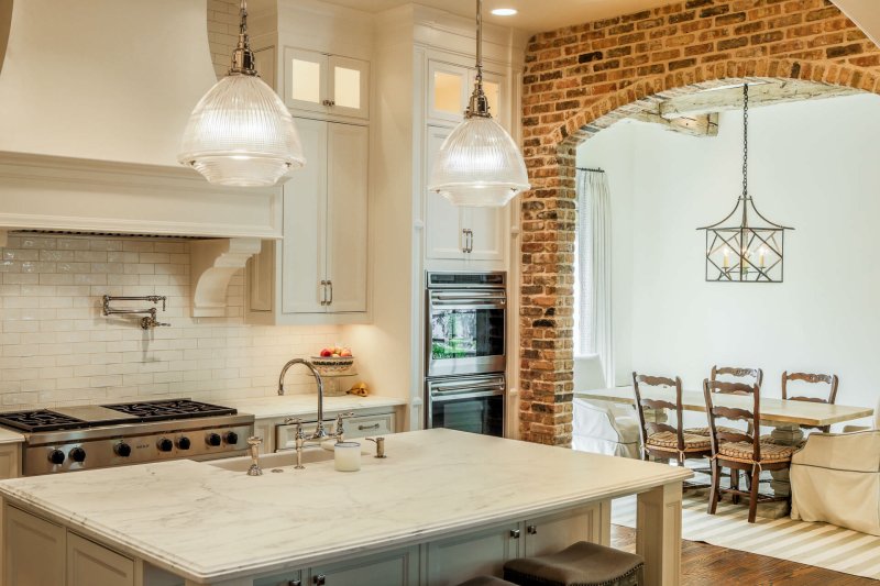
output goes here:
[[[755, 207], [748, 190], [749, 86], [743, 85], [743, 195], [721, 222], [706, 232], [706, 280], [782, 283], [785, 230]], [[730, 222], [728, 223], [728, 220]]]

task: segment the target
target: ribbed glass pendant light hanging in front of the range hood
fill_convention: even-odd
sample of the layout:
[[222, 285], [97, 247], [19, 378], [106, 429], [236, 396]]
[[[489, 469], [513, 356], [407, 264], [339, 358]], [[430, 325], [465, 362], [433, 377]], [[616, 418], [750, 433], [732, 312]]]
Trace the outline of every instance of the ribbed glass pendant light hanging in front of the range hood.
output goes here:
[[189, 115], [177, 161], [209, 183], [240, 187], [275, 185], [306, 164], [290, 112], [254, 68], [246, 0], [229, 74]]

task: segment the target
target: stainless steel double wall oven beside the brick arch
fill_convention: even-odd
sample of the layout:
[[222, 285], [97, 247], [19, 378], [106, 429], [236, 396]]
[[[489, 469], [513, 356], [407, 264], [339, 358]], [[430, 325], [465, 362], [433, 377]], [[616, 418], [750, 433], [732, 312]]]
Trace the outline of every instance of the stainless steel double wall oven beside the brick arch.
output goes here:
[[426, 428], [504, 435], [507, 274], [428, 273]]

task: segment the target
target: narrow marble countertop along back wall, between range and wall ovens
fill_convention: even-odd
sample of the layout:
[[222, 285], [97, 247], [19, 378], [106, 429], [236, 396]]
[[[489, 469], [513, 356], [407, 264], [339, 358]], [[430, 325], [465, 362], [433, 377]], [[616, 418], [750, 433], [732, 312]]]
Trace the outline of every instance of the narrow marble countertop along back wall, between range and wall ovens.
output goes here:
[[[251, 413], [256, 419], [276, 417], [295, 417], [318, 412], [317, 395], [277, 395], [274, 397], [256, 397], [253, 399], [227, 399], [223, 406], [238, 409], [241, 413]], [[351, 409], [372, 409], [376, 407], [397, 407], [406, 405], [406, 399], [370, 395], [342, 395], [323, 398], [324, 413], [348, 411]]]

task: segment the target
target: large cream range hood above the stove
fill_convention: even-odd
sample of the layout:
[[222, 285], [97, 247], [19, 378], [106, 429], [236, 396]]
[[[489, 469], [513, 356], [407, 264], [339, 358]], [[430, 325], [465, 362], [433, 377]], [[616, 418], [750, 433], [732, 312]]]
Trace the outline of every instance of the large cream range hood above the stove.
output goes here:
[[206, 0], [0, 0], [0, 231], [277, 239], [280, 187], [177, 164]]

